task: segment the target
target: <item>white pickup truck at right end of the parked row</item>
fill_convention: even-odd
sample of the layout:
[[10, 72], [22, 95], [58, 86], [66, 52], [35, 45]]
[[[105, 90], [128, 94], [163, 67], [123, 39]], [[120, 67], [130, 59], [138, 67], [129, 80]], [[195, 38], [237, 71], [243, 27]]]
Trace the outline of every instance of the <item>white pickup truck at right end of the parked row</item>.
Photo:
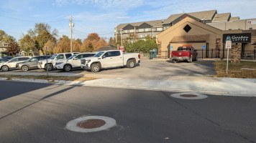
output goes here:
[[81, 68], [98, 72], [110, 67], [127, 66], [133, 68], [140, 63], [139, 53], [123, 53], [120, 50], [99, 51], [93, 57], [81, 59]]

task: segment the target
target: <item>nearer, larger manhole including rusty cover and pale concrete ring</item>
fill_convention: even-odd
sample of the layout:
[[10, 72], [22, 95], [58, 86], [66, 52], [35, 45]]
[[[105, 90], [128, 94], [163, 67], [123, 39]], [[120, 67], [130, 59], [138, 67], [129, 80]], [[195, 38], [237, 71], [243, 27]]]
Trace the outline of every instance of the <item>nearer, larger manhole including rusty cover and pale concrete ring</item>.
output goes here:
[[99, 132], [116, 125], [116, 120], [110, 117], [88, 116], [73, 119], [66, 128], [73, 132]]

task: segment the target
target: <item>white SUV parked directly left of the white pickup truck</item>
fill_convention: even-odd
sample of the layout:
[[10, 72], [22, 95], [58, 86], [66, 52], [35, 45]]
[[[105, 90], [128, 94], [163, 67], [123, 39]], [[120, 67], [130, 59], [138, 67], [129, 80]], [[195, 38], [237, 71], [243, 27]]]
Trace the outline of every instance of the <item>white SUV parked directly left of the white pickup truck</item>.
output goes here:
[[71, 71], [72, 69], [81, 69], [81, 59], [94, 56], [96, 53], [86, 52], [81, 54], [74, 54], [68, 59], [64, 59], [56, 62], [55, 67], [57, 69], [63, 69], [63, 71]]

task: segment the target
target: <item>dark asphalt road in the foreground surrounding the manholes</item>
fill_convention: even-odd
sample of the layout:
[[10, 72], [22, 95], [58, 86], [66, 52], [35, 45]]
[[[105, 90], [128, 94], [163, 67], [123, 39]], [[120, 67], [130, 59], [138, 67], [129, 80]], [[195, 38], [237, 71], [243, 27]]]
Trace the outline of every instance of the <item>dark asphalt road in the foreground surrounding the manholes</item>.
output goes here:
[[[256, 142], [256, 98], [188, 100], [173, 92], [0, 81], [0, 142]], [[101, 132], [71, 132], [73, 119], [116, 119]]]

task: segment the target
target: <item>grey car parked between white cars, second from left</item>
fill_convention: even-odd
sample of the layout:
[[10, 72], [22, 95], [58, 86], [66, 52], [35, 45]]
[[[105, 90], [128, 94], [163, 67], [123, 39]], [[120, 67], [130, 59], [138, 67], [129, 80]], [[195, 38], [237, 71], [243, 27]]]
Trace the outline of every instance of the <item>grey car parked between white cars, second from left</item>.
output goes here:
[[22, 69], [22, 71], [28, 71], [29, 69], [35, 69], [37, 68], [38, 61], [49, 59], [50, 55], [48, 56], [33, 56], [30, 59], [27, 59], [26, 61], [19, 62], [16, 64], [17, 69]]

